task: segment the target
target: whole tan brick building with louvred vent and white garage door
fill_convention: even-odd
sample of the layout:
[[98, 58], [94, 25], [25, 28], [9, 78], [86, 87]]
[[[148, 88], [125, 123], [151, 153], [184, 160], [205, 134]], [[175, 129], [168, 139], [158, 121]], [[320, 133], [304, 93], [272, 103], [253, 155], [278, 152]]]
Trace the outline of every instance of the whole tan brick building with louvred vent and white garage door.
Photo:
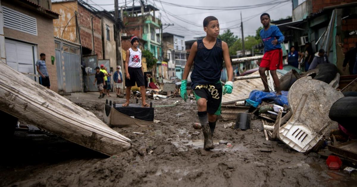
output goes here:
[[51, 10], [50, 0], [2, 0], [0, 7], [1, 60], [38, 81], [35, 63], [46, 54], [51, 90], [57, 92], [53, 20], [59, 14]]

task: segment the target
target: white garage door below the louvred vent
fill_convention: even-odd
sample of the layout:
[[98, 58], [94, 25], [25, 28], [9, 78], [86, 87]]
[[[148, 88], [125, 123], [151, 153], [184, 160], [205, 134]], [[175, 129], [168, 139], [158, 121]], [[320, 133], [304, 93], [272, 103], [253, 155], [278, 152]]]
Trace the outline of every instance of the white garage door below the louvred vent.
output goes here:
[[[13, 40], [5, 40], [6, 63], [19, 72], [36, 74], [35, 46]], [[28, 76], [36, 80], [34, 76]]]

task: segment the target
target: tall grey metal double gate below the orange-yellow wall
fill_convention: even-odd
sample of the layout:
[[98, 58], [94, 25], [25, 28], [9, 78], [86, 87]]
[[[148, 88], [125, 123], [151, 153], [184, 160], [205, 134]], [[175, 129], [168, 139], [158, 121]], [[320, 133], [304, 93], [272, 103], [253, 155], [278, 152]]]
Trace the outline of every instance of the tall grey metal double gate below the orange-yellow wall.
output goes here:
[[58, 90], [82, 92], [80, 48], [55, 41]]

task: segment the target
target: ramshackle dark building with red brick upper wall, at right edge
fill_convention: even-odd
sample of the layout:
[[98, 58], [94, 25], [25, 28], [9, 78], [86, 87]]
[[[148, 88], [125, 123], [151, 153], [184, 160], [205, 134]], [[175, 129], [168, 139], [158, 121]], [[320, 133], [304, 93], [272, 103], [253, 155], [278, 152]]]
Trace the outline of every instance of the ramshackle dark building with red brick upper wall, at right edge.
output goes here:
[[357, 2], [355, 0], [293, 0], [292, 21], [277, 26], [285, 32], [290, 46], [305, 51], [311, 42], [313, 52], [323, 48], [341, 75], [343, 53], [355, 47], [357, 35]]

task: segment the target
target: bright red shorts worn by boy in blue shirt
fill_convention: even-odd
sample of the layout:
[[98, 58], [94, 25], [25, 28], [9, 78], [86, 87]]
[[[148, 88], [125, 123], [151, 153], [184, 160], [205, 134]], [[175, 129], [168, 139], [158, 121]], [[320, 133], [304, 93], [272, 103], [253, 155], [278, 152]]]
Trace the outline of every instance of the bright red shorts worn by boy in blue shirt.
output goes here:
[[283, 52], [281, 49], [275, 49], [264, 53], [260, 66], [267, 70], [283, 69]]

